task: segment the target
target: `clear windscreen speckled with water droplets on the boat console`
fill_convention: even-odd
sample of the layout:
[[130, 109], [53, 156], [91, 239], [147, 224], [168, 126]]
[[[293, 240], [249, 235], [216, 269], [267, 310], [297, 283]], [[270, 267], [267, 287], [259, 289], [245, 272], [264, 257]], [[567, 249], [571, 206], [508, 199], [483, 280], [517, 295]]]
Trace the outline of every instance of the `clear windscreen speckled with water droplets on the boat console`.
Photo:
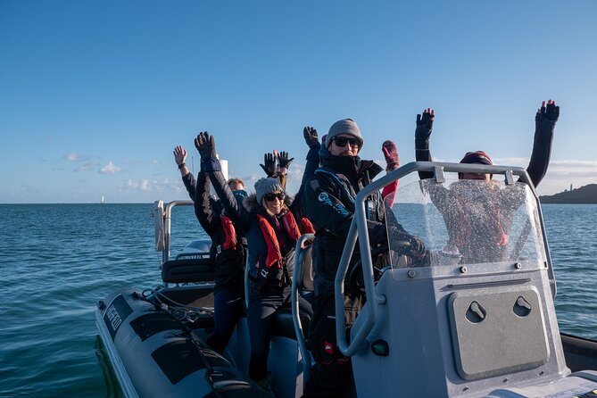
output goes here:
[[535, 196], [526, 184], [427, 179], [400, 187], [394, 205], [385, 206], [386, 261], [393, 267], [546, 260]]

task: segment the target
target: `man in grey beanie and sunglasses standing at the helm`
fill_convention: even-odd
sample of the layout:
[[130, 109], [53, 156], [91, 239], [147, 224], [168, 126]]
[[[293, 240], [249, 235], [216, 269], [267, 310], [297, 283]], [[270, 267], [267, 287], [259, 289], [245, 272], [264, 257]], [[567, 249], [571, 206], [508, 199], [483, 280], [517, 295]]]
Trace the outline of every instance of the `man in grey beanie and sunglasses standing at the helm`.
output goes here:
[[[334, 281], [352, 223], [354, 198], [382, 171], [375, 162], [361, 160], [358, 154], [363, 144], [361, 129], [354, 120], [336, 121], [319, 150], [321, 165], [305, 186], [305, 210], [316, 230], [312, 252], [315, 296], [309, 332], [310, 350], [316, 363], [311, 368], [305, 397], [341, 397], [350, 388], [347, 381], [352, 377], [351, 361], [336, 345]], [[394, 148], [386, 147], [387, 151], [392, 149], [395, 145]], [[394, 160], [392, 166], [397, 168], [397, 153]], [[386, 244], [386, 225], [382, 222], [384, 205], [380, 193], [369, 196], [365, 210], [371, 245]], [[396, 232], [410, 243], [411, 254], [418, 257], [425, 255], [425, 245], [420, 238], [410, 236], [403, 229]], [[345, 286], [344, 314], [337, 315], [344, 316], [347, 332], [361, 310], [361, 303], [361, 290]]]

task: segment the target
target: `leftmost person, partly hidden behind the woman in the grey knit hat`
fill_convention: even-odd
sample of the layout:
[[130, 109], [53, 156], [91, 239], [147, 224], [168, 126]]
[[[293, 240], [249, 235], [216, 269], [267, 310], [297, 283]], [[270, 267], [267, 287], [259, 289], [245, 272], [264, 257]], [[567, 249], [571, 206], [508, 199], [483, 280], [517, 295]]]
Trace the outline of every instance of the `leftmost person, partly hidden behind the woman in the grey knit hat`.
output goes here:
[[[206, 343], [222, 353], [236, 328], [236, 320], [245, 315], [244, 272], [246, 258], [245, 236], [236, 228], [219, 201], [210, 196], [211, 181], [204, 170], [197, 178], [187, 169], [187, 150], [174, 149], [174, 160], [187, 192], [194, 202], [195, 216], [211, 238], [210, 259], [214, 264], [214, 328]], [[242, 203], [246, 197], [245, 185], [240, 178], [228, 180], [233, 197]]]

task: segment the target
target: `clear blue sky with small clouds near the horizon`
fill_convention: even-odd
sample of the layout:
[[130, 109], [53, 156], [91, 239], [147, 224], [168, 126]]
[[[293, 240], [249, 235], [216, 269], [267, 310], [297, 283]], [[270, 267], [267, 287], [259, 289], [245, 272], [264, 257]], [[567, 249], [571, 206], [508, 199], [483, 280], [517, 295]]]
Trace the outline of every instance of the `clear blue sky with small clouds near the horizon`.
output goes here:
[[0, 2], [0, 203], [185, 198], [172, 149], [208, 130], [230, 174], [295, 157], [303, 126], [357, 120], [363, 158], [484, 149], [527, 166], [542, 100], [561, 114], [538, 192], [597, 183], [594, 1]]

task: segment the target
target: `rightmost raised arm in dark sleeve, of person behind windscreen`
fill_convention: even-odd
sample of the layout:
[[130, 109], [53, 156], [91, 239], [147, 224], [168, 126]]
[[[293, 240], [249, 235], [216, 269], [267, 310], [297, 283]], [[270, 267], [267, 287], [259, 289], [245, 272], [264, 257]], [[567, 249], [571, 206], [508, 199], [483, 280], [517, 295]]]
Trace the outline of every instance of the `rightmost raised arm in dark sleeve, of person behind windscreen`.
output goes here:
[[560, 117], [560, 106], [555, 101], [543, 101], [535, 114], [535, 138], [533, 152], [528, 162], [527, 173], [535, 187], [539, 185], [550, 164], [551, 142], [556, 122]]

